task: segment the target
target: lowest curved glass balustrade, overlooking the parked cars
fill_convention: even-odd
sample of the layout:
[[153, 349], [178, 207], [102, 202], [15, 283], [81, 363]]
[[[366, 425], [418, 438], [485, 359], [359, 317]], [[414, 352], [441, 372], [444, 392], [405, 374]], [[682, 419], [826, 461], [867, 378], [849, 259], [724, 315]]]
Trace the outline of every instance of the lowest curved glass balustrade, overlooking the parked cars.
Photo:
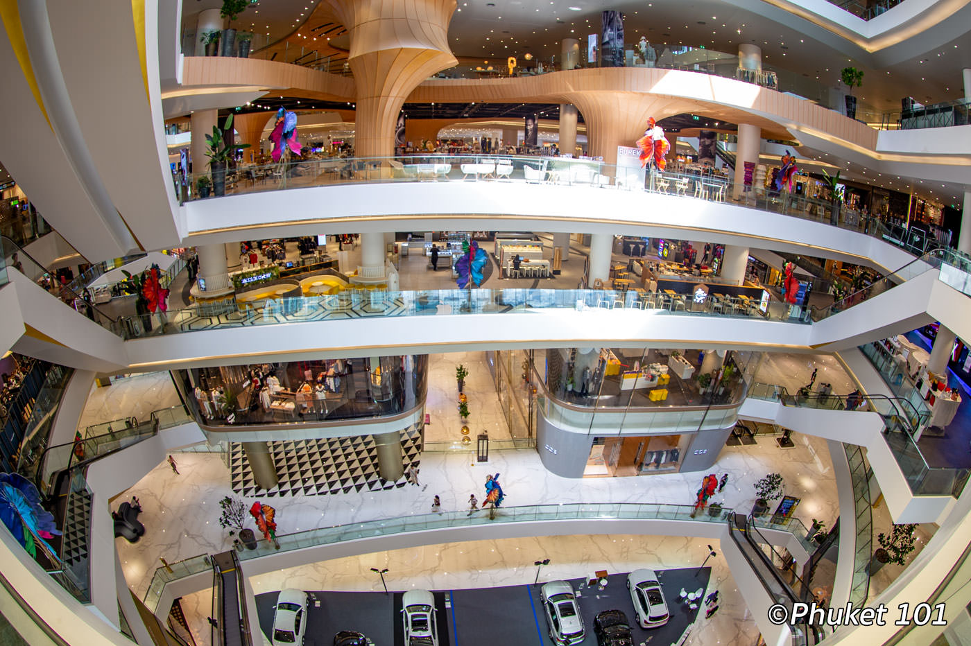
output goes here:
[[[304, 532], [278, 535], [276, 540], [260, 538], [254, 549], [245, 549], [239, 554], [241, 561], [258, 559], [264, 556], [280, 554], [292, 550], [299, 550], [318, 545], [330, 545], [360, 538], [385, 536], [397, 533], [425, 532], [461, 527], [479, 527], [494, 523], [527, 523], [535, 521], [559, 520], [681, 520], [698, 523], [724, 523], [734, 512], [732, 509], [722, 508], [720, 512], [712, 514], [708, 511], [693, 514], [694, 506], [689, 504], [661, 504], [655, 502], [572, 502], [565, 504], [536, 504], [517, 507], [499, 507], [495, 509], [493, 517], [488, 510], [480, 510], [473, 515], [466, 511], [448, 511], [441, 514], [417, 514], [398, 518], [385, 518], [362, 523], [351, 523], [333, 527], [323, 527]], [[806, 527], [798, 521], [773, 524], [771, 521], [759, 521], [758, 527], [788, 532], [800, 539], [804, 545]], [[149, 590], [145, 596], [145, 603], [154, 611], [165, 590], [165, 585], [171, 581], [199, 574], [210, 568], [210, 560], [206, 555], [200, 555], [159, 567], [151, 577]]]

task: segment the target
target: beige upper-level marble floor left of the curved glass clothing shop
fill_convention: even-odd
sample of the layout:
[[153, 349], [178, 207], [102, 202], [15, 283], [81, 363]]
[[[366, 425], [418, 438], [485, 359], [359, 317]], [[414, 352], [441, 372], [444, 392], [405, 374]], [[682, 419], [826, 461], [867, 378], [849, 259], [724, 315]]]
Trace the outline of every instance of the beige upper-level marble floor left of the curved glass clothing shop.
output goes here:
[[181, 403], [168, 372], [132, 374], [113, 379], [110, 386], [99, 386], [93, 381], [78, 422], [78, 430], [84, 436], [84, 430], [88, 426], [122, 417], [135, 417], [144, 422], [149, 419], [153, 410]]

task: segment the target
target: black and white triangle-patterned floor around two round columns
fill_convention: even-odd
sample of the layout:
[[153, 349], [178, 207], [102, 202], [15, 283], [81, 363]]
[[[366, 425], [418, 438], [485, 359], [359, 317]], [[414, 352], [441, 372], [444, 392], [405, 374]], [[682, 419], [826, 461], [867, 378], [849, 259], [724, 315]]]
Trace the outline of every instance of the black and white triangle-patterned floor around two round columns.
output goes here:
[[[394, 482], [381, 477], [378, 449], [373, 436], [271, 441], [268, 444], [280, 478], [277, 486], [269, 490], [256, 486], [243, 445], [231, 445], [230, 478], [232, 489], [237, 494], [268, 498], [321, 496], [363, 490], [381, 491], [407, 484], [404, 477]], [[405, 472], [413, 465], [419, 468], [421, 434], [402, 433], [401, 452]]]

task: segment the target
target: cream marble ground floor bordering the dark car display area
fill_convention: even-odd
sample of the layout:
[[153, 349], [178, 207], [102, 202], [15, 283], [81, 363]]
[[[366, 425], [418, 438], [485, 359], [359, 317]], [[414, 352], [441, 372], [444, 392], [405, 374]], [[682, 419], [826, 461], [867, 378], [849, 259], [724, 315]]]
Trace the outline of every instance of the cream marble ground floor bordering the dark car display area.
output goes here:
[[[707, 539], [643, 535], [574, 535], [506, 538], [428, 545], [407, 550], [375, 552], [325, 563], [300, 565], [251, 577], [255, 594], [298, 588], [380, 592], [381, 580], [371, 567], [387, 568], [388, 590], [454, 590], [531, 584], [533, 562], [550, 559], [540, 572], [540, 583], [581, 577], [595, 569], [627, 572], [637, 567], [654, 569], [701, 565], [708, 554]], [[709, 559], [712, 577], [706, 596], [719, 591], [719, 611], [710, 619], [701, 614], [686, 644], [751, 646], [758, 637], [752, 616], [720, 555], [719, 541], [711, 541], [718, 556]], [[663, 574], [661, 575], [663, 584]], [[677, 598], [667, 594], [669, 606]], [[212, 612], [209, 590], [184, 597], [186, 620], [200, 646], [210, 643], [206, 617]], [[540, 620], [542, 622], [542, 619]]]

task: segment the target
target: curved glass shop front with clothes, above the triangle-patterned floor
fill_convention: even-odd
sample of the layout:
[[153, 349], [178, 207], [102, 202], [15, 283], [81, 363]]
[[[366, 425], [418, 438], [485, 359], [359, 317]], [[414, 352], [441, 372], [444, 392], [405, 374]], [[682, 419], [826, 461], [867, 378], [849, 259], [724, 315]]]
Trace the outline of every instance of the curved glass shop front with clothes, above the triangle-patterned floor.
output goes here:
[[424, 403], [428, 355], [357, 357], [173, 371], [206, 426], [330, 422], [403, 413]]

